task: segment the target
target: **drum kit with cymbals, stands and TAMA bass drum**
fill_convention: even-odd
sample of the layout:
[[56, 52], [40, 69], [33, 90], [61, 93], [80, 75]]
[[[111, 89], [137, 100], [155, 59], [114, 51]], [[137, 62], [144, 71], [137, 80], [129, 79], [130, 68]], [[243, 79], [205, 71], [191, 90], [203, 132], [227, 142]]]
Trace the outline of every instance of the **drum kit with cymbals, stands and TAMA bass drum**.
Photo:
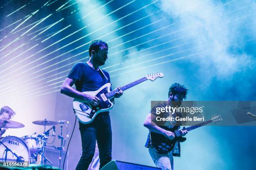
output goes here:
[[[33, 121], [33, 124], [41, 125], [44, 127], [44, 133], [34, 133], [32, 135], [26, 135], [21, 138], [16, 136], [6, 136], [4, 138], [0, 138], [0, 162], [16, 162], [16, 163], [31, 163], [31, 164], [39, 164], [46, 165], [49, 162], [51, 165], [51, 161], [45, 156], [45, 148], [46, 143], [49, 137], [53, 136], [55, 139], [55, 125], [60, 125], [61, 134], [58, 135], [58, 138], [61, 140], [60, 147], [54, 147], [56, 150], [59, 150], [59, 168], [61, 165], [61, 154], [64, 149], [65, 141], [62, 136], [63, 126], [64, 124], [68, 124], [67, 120], [59, 120], [59, 121], [49, 121], [49, 120], [38, 120]], [[46, 126], [52, 126], [48, 130], [46, 130]], [[0, 131], [1, 129], [7, 128], [23, 128], [23, 125], [20, 122], [16, 122], [13, 120], [0, 120]], [[50, 135], [50, 131], [52, 133]], [[68, 137], [68, 135], [67, 135]], [[53, 142], [52, 142], [53, 143]]]

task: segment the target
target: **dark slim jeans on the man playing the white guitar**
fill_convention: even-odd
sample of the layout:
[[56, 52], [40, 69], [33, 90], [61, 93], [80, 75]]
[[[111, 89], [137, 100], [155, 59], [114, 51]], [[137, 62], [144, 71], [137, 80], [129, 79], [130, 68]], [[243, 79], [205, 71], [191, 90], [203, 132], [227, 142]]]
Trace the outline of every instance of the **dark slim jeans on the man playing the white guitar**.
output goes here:
[[79, 122], [82, 138], [82, 156], [76, 170], [87, 170], [95, 152], [96, 140], [99, 148], [100, 168], [111, 161], [112, 130], [108, 112], [101, 112], [89, 124]]

